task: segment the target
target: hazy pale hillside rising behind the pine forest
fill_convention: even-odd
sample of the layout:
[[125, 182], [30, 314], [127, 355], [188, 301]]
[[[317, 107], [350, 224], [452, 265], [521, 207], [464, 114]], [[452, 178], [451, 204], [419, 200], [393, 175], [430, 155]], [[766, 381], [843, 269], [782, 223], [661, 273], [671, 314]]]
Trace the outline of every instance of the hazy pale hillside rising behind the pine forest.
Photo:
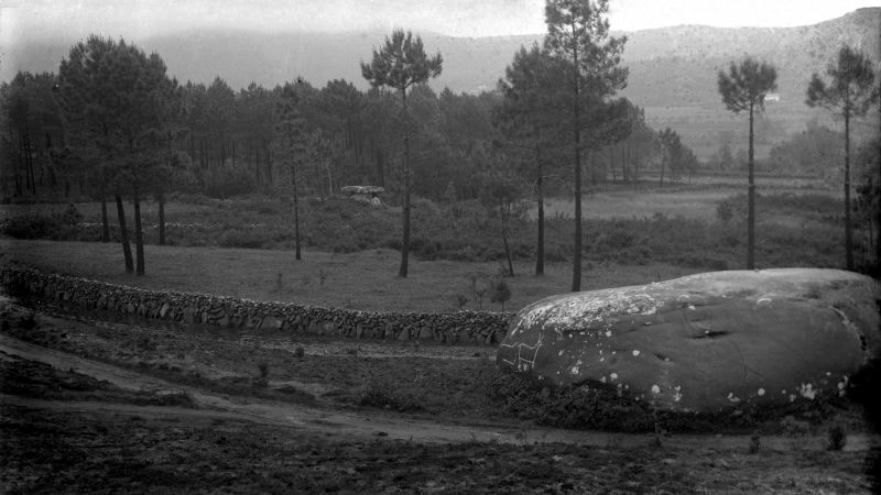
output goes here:
[[[724, 142], [740, 147], [746, 141], [743, 118], [726, 111], [716, 90], [719, 69], [746, 54], [777, 68], [779, 101], [769, 105], [760, 122], [759, 154], [774, 142], [798, 132], [817, 119], [833, 123], [827, 112], [804, 105], [811, 75], [823, 72], [842, 43], [860, 47], [881, 61], [881, 8], [859, 9], [841, 18], [800, 28], [721, 29], [698, 25], [617, 33], [628, 36], [624, 64], [630, 67], [623, 95], [646, 109], [654, 128], [671, 127], [686, 144], [706, 158]], [[259, 33], [250, 31], [187, 31], [131, 40], [162, 55], [171, 74], [181, 80], [210, 82], [220, 76], [232, 87], [251, 81], [273, 87], [303, 76], [315, 86], [346, 79], [361, 88], [367, 82], [359, 62], [388, 33]], [[490, 90], [521, 45], [541, 42], [543, 35], [452, 37], [423, 33], [426, 50], [444, 56], [444, 72], [432, 86], [456, 92]], [[75, 40], [44, 33], [2, 47], [0, 79], [15, 70], [57, 70]], [[881, 68], [881, 65], [879, 65]], [[877, 132], [878, 120], [857, 131]]]

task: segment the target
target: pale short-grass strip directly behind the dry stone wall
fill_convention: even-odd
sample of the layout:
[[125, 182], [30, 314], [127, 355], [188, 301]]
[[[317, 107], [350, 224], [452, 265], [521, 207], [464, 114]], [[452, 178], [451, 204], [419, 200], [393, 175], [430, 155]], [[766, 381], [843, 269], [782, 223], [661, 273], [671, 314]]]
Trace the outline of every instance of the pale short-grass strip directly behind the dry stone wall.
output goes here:
[[[468, 275], [494, 275], [498, 263], [418, 261], [411, 258], [410, 276], [399, 278], [400, 255], [391, 250], [349, 254], [306, 251], [302, 262], [290, 251], [180, 248], [145, 245], [146, 276], [123, 271], [118, 243], [18, 241], [0, 239], [0, 262], [20, 262], [47, 272], [66, 273], [152, 289], [200, 292], [263, 300], [367, 310], [450, 311], [456, 295], [469, 298], [466, 309], [477, 309]], [[518, 263], [508, 278], [512, 298], [505, 310], [516, 310], [542, 297], [565, 293], [572, 267], [554, 263], [536, 277], [531, 262]], [[673, 278], [697, 268], [663, 264], [641, 266], [596, 265], [584, 273], [583, 288], [616, 287]], [[326, 274], [324, 284], [320, 274]], [[281, 274], [281, 287], [278, 279]], [[500, 310], [483, 298], [483, 308]]]

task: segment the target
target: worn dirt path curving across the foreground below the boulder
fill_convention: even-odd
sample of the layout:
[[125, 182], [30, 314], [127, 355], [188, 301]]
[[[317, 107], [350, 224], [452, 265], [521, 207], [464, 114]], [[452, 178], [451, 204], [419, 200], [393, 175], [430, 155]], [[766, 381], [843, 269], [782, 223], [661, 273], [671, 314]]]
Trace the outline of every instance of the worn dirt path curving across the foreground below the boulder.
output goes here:
[[[0, 334], [0, 352], [24, 360], [37, 361], [58, 370], [74, 370], [77, 373], [107, 381], [130, 391], [149, 391], [156, 394], [186, 392], [202, 409], [182, 409], [168, 407], [144, 407], [102, 402], [52, 402], [2, 396], [3, 404], [19, 404], [50, 409], [101, 410], [122, 414], [181, 417], [204, 416], [247, 419], [250, 421], [289, 426], [328, 436], [345, 438], [388, 437], [391, 439], [412, 440], [422, 443], [450, 442], [501, 442], [535, 443], [559, 442], [569, 444], [587, 444], [596, 447], [637, 447], [646, 444], [653, 439], [645, 435], [607, 433], [598, 431], [576, 431], [539, 428], [533, 425], [493, 426], [488, 424], [442, 424], [393, 414], [367, 414], [356, 411], [327, 410], [287, 403], [248, 399], [247, 404], [217, 395], [204, 389], [182, 386], [163, 380], [121, 369], [110, 364], [83, 359], [66, 352], [34, 345], [19, 339]], [[747, 436], [674, 436], [665, 438], [677, 447], [707, 446], [746, 447]], [[850, 436], [847, 450], [863, 451], [872, 444], [873, 439], [867, 436]], [[785, 450], [792, 447], [793, 439], [785, 437], [763, 437], [762, 444], [769, 449]], [[823, 449], [823, 437], [800, 437], [802, 449]]]

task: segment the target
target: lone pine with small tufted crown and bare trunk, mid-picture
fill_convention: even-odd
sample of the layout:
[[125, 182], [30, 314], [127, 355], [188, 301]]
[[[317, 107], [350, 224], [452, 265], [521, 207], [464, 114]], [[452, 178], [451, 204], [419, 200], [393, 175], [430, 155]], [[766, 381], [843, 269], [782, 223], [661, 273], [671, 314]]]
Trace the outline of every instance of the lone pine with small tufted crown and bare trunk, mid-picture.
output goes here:
[[403, 238], [401, 241], [401, 266], [398, 275], [406, 277], [410, 256], [410, 130], [407, 129], [406, 92], [414, 85], [420, 85], [440, 75], [444, 59], [439, 53], [434, 56], [425, 54], [422, 37], [413, 37], [413, 33], [394, 30], [391, 37], [377, 51], [370, 64], [361, 63], [361, 75], [373, 87], [387, 86], [401, 94], [403, 131], [404, 131], [404, 200], [403, 200]]

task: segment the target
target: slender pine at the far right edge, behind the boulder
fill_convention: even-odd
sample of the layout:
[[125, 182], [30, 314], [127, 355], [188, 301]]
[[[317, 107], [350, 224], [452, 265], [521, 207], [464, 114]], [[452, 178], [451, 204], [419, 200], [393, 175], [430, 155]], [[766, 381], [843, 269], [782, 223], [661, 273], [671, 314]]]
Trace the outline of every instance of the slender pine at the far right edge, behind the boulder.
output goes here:
[[874, 85], [872, 62], [850, 46], [838, 51], [838, 59], [826, 68], [830, 81], [817, 73], [807, 86], [809, 107], [831, 110], [845, 120], [845, 258], [847, 270], [853, 270], [853, 226], [850, 220], [850, 119], [864, 116], [878, 102], [879, 89]]

